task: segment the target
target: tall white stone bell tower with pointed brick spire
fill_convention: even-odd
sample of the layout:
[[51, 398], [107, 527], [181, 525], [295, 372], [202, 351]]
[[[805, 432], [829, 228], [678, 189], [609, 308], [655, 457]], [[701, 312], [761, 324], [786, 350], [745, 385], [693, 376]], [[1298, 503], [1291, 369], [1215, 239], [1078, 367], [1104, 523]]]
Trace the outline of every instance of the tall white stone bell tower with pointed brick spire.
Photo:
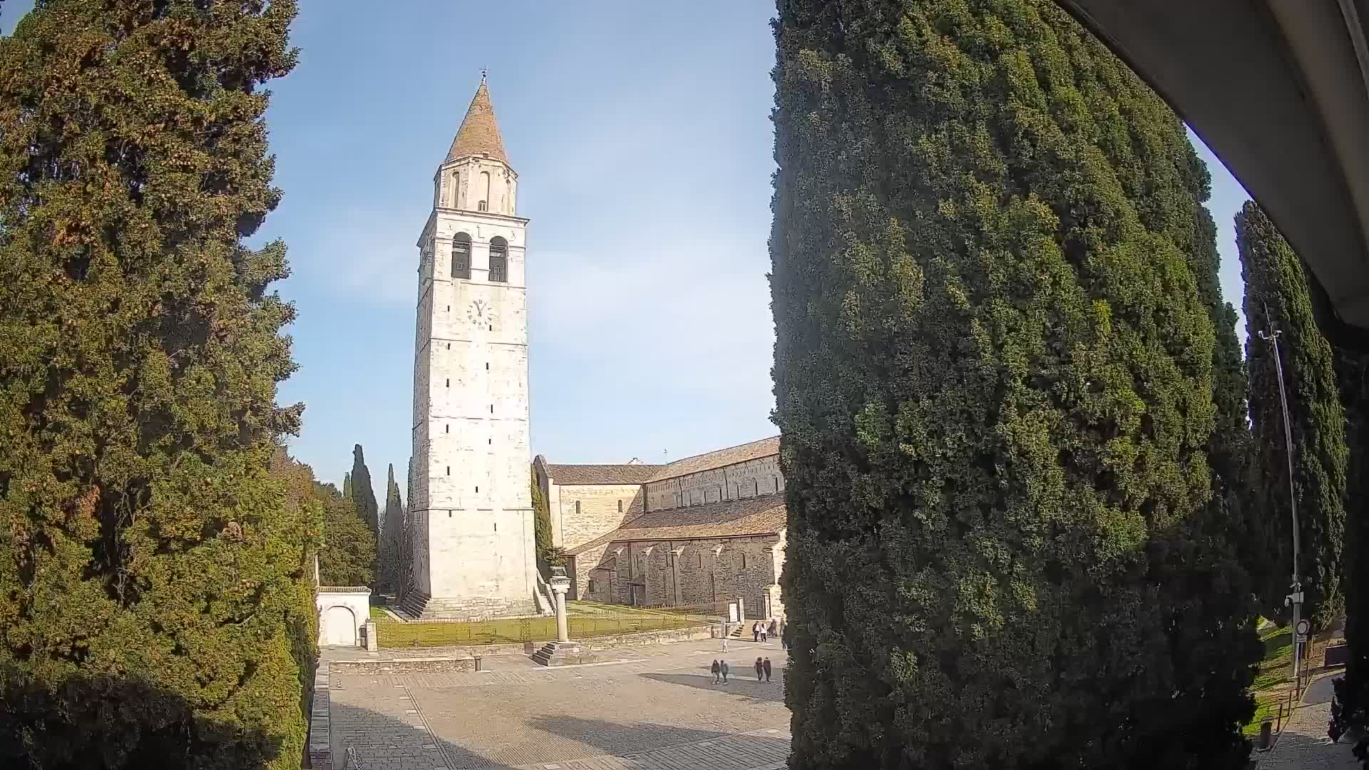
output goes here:
[[527, 219], [516, 215], [490, 92], [475, 99], [433, 179], [419, 237], [413, 352], [413, 586], [423, 618], [539, 607], [530, 489]]

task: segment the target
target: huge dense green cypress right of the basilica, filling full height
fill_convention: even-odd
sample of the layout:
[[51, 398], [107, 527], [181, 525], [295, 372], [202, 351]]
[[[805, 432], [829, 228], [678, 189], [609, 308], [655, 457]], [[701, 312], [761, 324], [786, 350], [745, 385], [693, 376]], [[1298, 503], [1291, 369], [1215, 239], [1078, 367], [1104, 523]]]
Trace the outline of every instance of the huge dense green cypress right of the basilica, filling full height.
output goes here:
[[1183, 125], [1049, 1], [775, 32], [791, 767], [1240, 767]]

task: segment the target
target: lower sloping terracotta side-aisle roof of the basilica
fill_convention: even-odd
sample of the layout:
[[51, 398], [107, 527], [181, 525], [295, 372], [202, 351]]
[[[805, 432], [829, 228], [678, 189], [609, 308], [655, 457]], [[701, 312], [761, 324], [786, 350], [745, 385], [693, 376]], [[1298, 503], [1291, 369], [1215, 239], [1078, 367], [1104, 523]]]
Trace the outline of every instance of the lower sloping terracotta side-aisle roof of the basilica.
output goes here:
[[708, 506], [642, 514], [602, 537], [572, 548], [568, 554], [575, 555], [606, 543], [624, 540], [693, 540], [697, 537], [775, 534], [784, 529], [784, 522], [783, 495], [724, 500]]

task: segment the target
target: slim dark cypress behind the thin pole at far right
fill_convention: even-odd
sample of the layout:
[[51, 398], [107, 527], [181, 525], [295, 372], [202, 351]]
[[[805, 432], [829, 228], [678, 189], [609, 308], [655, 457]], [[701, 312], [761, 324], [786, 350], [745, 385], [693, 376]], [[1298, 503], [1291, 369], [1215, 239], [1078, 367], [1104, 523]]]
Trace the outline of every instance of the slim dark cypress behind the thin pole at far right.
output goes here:
[[[1273, 345], [1259, 337], [1273, 326], [1280, 333], [1279, 352], [1292, 427], [1303, 615], [1320, 629], [1344, 611], [1348, 449], [1335, 358], [1317, 329], [1298, 255], [1254, 201], [1246, 201], [1236, 214], [1236, 244], [1246, 281], [1250, 422], [1264, 467], [1258, 495], [1269, 530], [1277, 533], [1270, 538], [1269, 555], [1287, 588], [1292, 573], [1288, 452]], [[1281, 596], [1279, 599], [1281, 604]]]

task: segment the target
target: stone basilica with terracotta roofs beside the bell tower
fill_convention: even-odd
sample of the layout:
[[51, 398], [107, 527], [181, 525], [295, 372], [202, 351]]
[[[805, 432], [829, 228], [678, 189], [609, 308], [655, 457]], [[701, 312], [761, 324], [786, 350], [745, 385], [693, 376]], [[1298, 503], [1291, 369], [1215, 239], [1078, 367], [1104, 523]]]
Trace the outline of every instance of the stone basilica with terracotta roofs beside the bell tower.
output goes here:
[[556, 464], [538, 455], [552, 544], [572, 599], [784, 615], [779, 437], [667, 464]]

